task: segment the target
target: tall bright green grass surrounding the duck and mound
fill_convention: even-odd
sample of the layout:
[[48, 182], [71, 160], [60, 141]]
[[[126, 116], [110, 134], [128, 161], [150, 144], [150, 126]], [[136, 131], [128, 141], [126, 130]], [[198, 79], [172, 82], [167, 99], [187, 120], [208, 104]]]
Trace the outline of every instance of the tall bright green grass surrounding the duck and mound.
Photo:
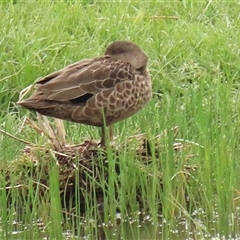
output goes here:
[[[154, 225], [126, 223], [105, 229], [123, 239], [175, 238], [181, 230], [178, 219], [185, 218], [189, 231], [185, 237], [239, 237], [239, 139], [240, 139], [240, 4], [237, 1], [9, 1], [0, 3], [0, 128], [30, 142], [43, 142], [32, 129], [20, 132], [24, 117], [31, 114], [15, 102], [20, 91], [35, 79], [82, 58], [100, 55], [117, 39], [137, 43], [149, 56], [153, 97], [138, 114], [115, 124], [114, 134], [124, 142], [126, 136], [146, 132], [153, 138], [163, 130], [179, 126], [178, 138], [200, 146], [183, 153], [172, 150], [173, 134], [164, 138], [159, 158], [141, 171], [134, 152], [121, 155], [119, 202], [113, 198], [114, 156], [108, 151], [108, 192], [105, 190], [105, 220], [114, 222], [116, 206], [123, 215], [136, 214], [136, 185], [141, 185], [144, 208], [151, 211]], [[177, 19], [153, 18], [175, 16]], [[100, 137], [96, 128], [65, 122], [69, 142]], [[152, 140], [154, 142], [154, 140]], [[152, 143], [153, 144], [153, 143]], [[16, 159], [24, 145], [0, 133], [1, 165]], [[154, 150], [153, 150], [154, 151]], [[188, 155], [193, 156], [189, 159]], [[178, 161], [177, 166], [175, 161]], [[196, 164], [198, 170], [186, 180], [183, 164]], [[157, 174], [163, 173], [163, 188]], [[28, 199], [22, 202], [12, 190], [13, 202], [24, 206], [24, 222], [17, 226], [14, 206], [7, 208], [5, 182], [0, 187], [1, 238], [65, 238], [63, 232], [95, 239], [100, 234], [92, 222], [99, 218], [90, 202], [85, 219], [77, 226], [61, 225], [58, 172], [51, 168], [49, 205], [36, 200], [38, 192], [30, 184]], [[11, 176], [14, 186], [16, 176]], [[94, 180], [92, 187], [94, 187]], [[104, 187], [105, 179], [102, 179]], [[31, 177], [29, 177], [31, 183]], [[188, 189], [188, 206], [183, 189]], [[32, 192], [31, 192], [32, 190]], [[86, 199], [90, 196], [86, 196]], [[88, 202], [88, 201], [87, 201]], [[127, 205], [130, 203], [130, 208]], [[162, 215], [158, 216], [158, 205]], [[35, 213], [30, 210], [32, 204]], [[95, 207], [95, 208], [94, 208]], [[130, 209], [130, 210], [129, 210]], [[202, 209], [202, 212], [200, 211]], [[110, 215], [110, 217], [108, 217]], [[42, 233], [36, 223], [41, 218]], [[85, 223], [85, 224], [83, 224]], [[77, 230], [75, 230], [75, 227]], [[25, 230], [24, 230], [25, 229]], [[28, 229], [28, 230], [26, 230]], [[24, 230], [14, 235], [16, 230]], [[98, 234], [96, 233], [98, 232]], [[181, 230], [182, 231], [182, 230]], [[158, 232], [162, 234], [158, 235]], [[180, 234], [180, 233], [179, 233]], [[197, 235], [200, 234], [200, 235]]]

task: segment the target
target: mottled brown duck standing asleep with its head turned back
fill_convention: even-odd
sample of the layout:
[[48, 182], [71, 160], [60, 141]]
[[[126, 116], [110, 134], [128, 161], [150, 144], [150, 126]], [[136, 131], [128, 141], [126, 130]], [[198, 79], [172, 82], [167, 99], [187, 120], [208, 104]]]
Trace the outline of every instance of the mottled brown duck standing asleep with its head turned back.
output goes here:
[[[148, 56], [135, 43], [115, 41], [102, 56], [83, 59], [34, 83], [23, 108], [101, 128], [100, 145], [112, 139], [112, 125], [131, 117], [151, 99]], [[106, 129], [109, 128], [109, 131]]]

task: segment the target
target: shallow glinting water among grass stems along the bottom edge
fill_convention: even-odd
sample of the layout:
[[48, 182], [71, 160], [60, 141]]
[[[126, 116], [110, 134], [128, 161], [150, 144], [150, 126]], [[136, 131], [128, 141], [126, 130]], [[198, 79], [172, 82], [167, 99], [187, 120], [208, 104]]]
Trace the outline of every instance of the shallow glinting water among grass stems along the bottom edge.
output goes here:
[[[117, 214], [114, 223], [97, 224], [92, 220], [85, 223], [84, 220], [79, 229], [65, 230], [63, 239], [240, 239], [240, 208], [230, 217], [229, 224], [222, 226], [223, 231], [218, 231], [217, 226], [220, 221], [218, 214], [213, 213], [212, 222], [204, 222], [206, 216], [202, 209], [196, 210], [192, 216], [179, 217], [168, 223], [161, 215], [157, 221], [150, 214], [138, 213], [135, 216], [121, 219]], [[206, 225], [207, 224], [207, 225]], [[2, 224], [1, 224], [2, 225]], [[91, 225], [91, 226], [90, 226]], [[219, 229], [219, 228], [218, 228]], [[48, 236], [46, 226], [41, 220], [37, 220], [31, 225], [23, 225], [21, 222], [12, 223], [12, 232], [6, 233], [0, 227], [0, 236], [8, 239], [52, 239]], [[225, 234], [224, 234], [225, 232]], [[30, 237], [30, 238], [29, 238]]]

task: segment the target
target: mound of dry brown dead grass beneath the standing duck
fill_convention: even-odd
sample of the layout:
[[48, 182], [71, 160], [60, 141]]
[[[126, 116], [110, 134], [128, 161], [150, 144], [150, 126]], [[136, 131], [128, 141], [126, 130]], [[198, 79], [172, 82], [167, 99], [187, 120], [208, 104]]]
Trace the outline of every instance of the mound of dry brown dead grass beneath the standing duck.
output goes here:
[[[85, 141], [82, 144], [68, 145], [65, 142], [65, 130], [61, 120], [56, 120], [55, 127], [53, 127], [46, 117], [38, 115], [38, 124], [30, 119], [27, 123], [30, 124], [38, 133], [47, 136], [49, 142], [46, 145], [39, 146], [26, 143], [20, 156], [16, 160], [8, 163], [8, 166], [1, 167], [1, 176], [5, 177], [6, 189], [8, 190], [9, 202], [11, 203], [12, 189], [17, 190], [24, 197], [29, 193], [29, 179], [31, 179], [31, 187], [37, 189], [39, 197], [46, 196], [49, 192], [50, 180], [49, 176], [53, 164], [58, 169], [59, 191], [64, 209], [74, 212], [74, 203], [81, 202], [81, 212], [84, 213], [84, 201], [86, 195], [95, 196], [97, 202], [101, 206], [104, 197], [103, 186], [100, 183], [102, 179], [108, 179], [109, 149], [99, 147], [98, 143], [94, 141]], [[54, 129], [57, 129], [57, 133]], [[178, 127], [172, 128], [175, 136], [178, 133]], [[8, 134], [9, 135], [9, 134]], [[124, 144], [117, 144], [113, 141], [110, 146], [111, 152], [115, 156], [115, 172], [120, 175], [119, 154], [123, 151], [132, 151], [134, 146], [135, 159], [140, 161], [142, 165], [148, 166], [152, 162], [152, 154], [159, 158], [162, 146], [162, 138], [167, 135], [166, 131], [156, 136], [154, 151], [151, 149], [151, 144], [147, 140], [146, 134], [138, 134], [129, 137]], [[19, 140], [19, 139], [18, 139]], [[136, 143], [135, 145], [131, 144]], [[174, 151], [182, 151], [191, 144], [182, 142], [173, 145]], [[185, 166], [186, 172], [195, 171], [196, 166]], [[144, 170], [143, 170], [144, 171]], [[14, 183], [12, 176], [14, 177]], [[90, 184], [89, 179], [93, 179], [96, 184]], [[161, 182], [161, 181], [160, 181]], [[99, 183], [99, 184], [98, 184]], [[80, 188], [78, 193], [78, 200], [76, 199], [76, 187]], [[105, 189], [107, 189], [107, 184]], [[141, 203], [141, 189], [139, 188], [137, 200]], [[117, 192], [115, 193], [117, 197]], [[88, 198], [89, 199], [89, 198]], [[70, 203], [71, 202], [71, 203]], [[69, 204], [68, 204], [69, 203]], [[71, 205], [71, 206], [70, 206]], [[71, 209], [71, 210], [70, 210]]]

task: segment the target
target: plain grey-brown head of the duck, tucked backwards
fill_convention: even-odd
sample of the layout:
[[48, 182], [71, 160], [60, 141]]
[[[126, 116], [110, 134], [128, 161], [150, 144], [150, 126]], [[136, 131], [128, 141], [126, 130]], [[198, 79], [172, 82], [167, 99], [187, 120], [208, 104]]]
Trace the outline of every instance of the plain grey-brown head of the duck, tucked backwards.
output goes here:
[[105, 55], [128, 62], [136, 69], [145, 69], [147, 66], [147, 55], [136, 44], [129, 41], [111, 43], [105, 50]]

